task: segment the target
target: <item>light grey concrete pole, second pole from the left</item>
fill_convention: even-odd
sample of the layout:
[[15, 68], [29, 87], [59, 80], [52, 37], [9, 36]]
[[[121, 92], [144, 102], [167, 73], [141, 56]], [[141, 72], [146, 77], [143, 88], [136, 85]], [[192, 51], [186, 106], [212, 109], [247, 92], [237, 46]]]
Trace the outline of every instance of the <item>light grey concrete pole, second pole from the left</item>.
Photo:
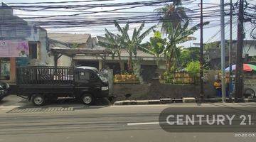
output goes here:
[[222, 102], [225, 102], [225, 23], [224, 0], [220, 0], [220, 44], [221, 44], [221, 92]]

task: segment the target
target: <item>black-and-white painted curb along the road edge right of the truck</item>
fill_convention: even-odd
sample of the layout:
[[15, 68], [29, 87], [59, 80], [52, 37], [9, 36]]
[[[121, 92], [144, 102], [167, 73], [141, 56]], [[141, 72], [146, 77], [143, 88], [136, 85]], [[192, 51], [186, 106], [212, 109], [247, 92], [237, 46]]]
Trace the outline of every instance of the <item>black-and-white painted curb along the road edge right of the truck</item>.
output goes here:
[[[188, 97], [183, 99], [152, 99], [152, 100], [124, 100], [114, 102], [114, 105], [146, 105], [146, 104], [172, 104], [172, 103], [196, 103], [199, 102], [199, 99], [194, 97]], [[221, 98], [213, 98], [213, 99], [204, 99], [205, 103], [219, 103], [222, 102]], [[227, 98], [228, 102], [228, 98]], [[233, 99], [234, 102], [234, 99]], [[256, 98], [254, 99], [242, 99], [242, 102], [256, 102]]]

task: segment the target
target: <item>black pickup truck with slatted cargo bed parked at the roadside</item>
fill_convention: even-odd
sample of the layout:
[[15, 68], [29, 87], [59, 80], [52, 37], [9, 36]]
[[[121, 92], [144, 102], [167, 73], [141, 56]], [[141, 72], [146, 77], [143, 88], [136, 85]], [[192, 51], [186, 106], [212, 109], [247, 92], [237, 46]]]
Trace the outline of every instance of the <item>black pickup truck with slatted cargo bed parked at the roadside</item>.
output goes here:
[[109, 94], [107, 78], [95, 67], [17, 67], [16, 75], [18, 96], [36, 106], [59, 97], [93, 104], [95, 99]]

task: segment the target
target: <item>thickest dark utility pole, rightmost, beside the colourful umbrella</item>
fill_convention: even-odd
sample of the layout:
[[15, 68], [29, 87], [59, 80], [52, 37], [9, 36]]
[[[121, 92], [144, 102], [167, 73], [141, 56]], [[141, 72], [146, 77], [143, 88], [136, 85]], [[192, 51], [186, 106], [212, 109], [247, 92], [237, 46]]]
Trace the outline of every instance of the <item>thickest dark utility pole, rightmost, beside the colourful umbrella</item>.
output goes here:
[[243, 46], [243, 0], [239, 0], [239, 13], [238, 13], [238, 45], [236, 50], [236, 70], [235, 70], [235, 102], [240, 102], [242, 99], [242, 46]]

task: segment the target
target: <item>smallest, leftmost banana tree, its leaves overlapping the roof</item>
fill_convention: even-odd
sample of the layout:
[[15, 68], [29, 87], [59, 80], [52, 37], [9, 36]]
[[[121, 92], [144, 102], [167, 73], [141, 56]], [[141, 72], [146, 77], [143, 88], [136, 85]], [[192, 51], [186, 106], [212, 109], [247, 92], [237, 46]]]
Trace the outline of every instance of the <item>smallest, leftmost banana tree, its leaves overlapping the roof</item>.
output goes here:
[[99, 41], [97, 44], [110, 49], [112, 51], [112, 59], [114, 59], [114, 56], [117, 56], [122, 74], [124, 71], [124, 63], [121, 59], [121, 53], [122, 50], [124, 50], [124, 47], [122, 46], [122, 37], [120, 35], [114, 35], [114, 33], [107, 31], [107, 29], [105, 29], [105, 32], [106, 41]]

